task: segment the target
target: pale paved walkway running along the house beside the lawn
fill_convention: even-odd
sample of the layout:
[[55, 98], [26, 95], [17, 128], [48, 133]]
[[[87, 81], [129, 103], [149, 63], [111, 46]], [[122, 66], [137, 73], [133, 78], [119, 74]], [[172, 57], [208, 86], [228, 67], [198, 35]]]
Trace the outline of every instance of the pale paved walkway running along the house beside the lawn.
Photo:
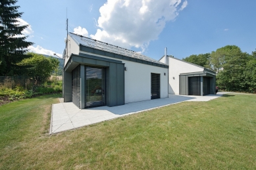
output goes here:
[[179, 102], [209, 101], [222, 96], [222, 94], [224, 93], [207, 96], [169, 95], [169, 98], [132, 102], [115, 107], [101, 106], [97, 108], [82, 110], [76, 107], [72, 102], [61, 102], [58, 104], [53, 104], [52, 106], [51, 126], [49, 133], [60, 133], [62, 131], [76, 129], [85, 125], [91, 125], [101, 121], [115, 119], [116, 117], [136, 114], [145, 110], [151, 110]]

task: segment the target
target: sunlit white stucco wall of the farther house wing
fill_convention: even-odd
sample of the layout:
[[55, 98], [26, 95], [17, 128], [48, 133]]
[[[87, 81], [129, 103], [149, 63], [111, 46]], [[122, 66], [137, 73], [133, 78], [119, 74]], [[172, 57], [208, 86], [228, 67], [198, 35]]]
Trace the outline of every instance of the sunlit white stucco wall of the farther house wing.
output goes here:
[[[169, 62], [169, 92], [170, 94], [179, 95], [179, 75], [191, 72], [203, 72], [203, 67], [195, 66], [188, 62], [168, 57]], [[173, 79], [174, 77], [174, 79]]]

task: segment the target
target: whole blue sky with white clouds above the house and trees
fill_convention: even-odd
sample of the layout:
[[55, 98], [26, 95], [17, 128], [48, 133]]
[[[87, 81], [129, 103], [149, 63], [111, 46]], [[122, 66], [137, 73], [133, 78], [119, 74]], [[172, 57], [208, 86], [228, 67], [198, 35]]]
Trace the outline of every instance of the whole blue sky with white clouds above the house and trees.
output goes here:
[[249, 54], [256, 49], [252, 0], [20, 0], [16, 5], [24, 12], [20, 22], [30, 24], [24, 34], [37, 53], [63, 53], [66, 9], [69, 32], [75, 29], [156, 60], [165, 47], [176, 58], [225, 45], [237, 45]]

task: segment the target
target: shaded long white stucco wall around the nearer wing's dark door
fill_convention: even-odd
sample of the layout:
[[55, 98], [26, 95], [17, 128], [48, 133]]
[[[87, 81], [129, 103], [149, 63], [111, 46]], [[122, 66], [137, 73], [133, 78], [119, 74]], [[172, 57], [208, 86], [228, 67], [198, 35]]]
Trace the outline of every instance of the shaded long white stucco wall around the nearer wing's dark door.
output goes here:
[[[80, 51], [80, 53], [91, 54], [84, 51]], [[93, 55], [111, 58], [97, 54]], [[117, 58], [111, 59], [120, 60]], [[168, 97], [168, 68], [160, 68], [127, 60], [120, 61], [127, 68], [127, 71], [124, 71], [125, 103], [151, 100], [151, 73], [160, 74], [160, 97]]]

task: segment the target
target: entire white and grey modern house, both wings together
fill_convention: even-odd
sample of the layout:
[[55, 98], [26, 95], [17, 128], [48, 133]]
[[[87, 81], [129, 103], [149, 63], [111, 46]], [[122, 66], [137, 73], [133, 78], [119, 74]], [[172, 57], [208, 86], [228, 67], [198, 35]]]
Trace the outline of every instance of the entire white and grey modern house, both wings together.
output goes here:
[[64, 102], [83, 109], [167, 98], [168, 94], [215, 94], [215, 72], [166, 53], [157, 61], [68, 33], [63, 52]]

